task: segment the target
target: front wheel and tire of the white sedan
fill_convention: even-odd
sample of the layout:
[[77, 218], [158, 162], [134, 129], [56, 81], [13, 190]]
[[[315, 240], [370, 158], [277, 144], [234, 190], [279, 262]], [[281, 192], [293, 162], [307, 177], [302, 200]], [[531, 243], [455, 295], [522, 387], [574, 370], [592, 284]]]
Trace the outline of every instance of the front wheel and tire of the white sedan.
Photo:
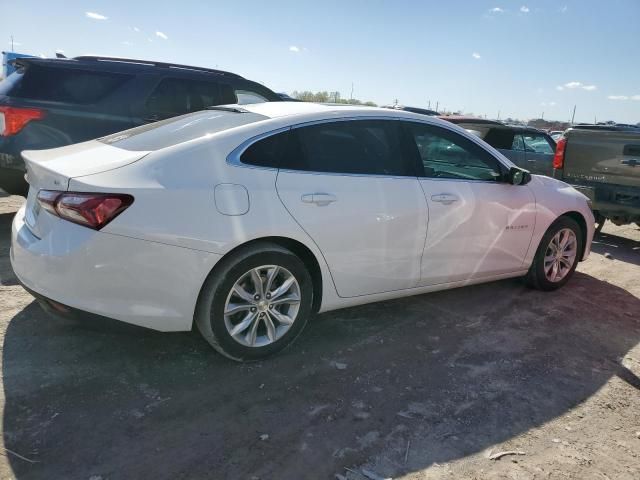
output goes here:
[[560, 217], [542, 237], [525, 281], [538, 290], [557, 290], [573, 276], [581, 256], [580, 226], [569, 217]]

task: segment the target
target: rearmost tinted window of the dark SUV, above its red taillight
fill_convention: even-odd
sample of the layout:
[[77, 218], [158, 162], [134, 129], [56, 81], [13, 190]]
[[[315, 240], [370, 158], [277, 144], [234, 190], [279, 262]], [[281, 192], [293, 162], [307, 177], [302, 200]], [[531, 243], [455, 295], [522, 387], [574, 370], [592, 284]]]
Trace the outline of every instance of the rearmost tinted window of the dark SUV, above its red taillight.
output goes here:
[[0, 94], [74, 104], [96, 103], [132, 75], [30, 64], [2, 82]]

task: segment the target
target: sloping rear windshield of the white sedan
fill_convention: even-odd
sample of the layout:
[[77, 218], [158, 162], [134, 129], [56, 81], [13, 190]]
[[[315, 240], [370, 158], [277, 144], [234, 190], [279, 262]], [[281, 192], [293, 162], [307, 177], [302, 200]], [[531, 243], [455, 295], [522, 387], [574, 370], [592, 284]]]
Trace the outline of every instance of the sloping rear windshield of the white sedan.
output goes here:
[[251, 112], [203, 110], [142, 125], [98, 140], [125, 150], [153, 151], [267, 118], [269, 117]]

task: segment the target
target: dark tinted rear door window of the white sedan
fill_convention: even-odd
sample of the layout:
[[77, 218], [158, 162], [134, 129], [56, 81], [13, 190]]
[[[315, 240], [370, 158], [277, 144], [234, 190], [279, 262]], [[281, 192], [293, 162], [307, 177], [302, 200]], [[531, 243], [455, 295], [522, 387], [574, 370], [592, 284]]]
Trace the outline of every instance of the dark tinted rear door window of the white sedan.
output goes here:
[[411, 176], [402, 154], [400, 122], [352, 120], [291, 131], [281, 168], [312, 172]]

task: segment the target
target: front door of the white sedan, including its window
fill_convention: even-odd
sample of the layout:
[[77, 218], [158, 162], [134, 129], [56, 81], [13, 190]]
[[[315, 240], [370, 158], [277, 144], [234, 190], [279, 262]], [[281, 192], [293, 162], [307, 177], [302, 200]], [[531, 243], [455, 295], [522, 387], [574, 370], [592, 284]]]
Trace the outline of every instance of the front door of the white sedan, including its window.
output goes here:
[[405, 126], [429, 209], [420, 284], [521, 270], [535, 224], [529, 187], [505, 183], [506, 167], [470, 138], [435, 125]]

